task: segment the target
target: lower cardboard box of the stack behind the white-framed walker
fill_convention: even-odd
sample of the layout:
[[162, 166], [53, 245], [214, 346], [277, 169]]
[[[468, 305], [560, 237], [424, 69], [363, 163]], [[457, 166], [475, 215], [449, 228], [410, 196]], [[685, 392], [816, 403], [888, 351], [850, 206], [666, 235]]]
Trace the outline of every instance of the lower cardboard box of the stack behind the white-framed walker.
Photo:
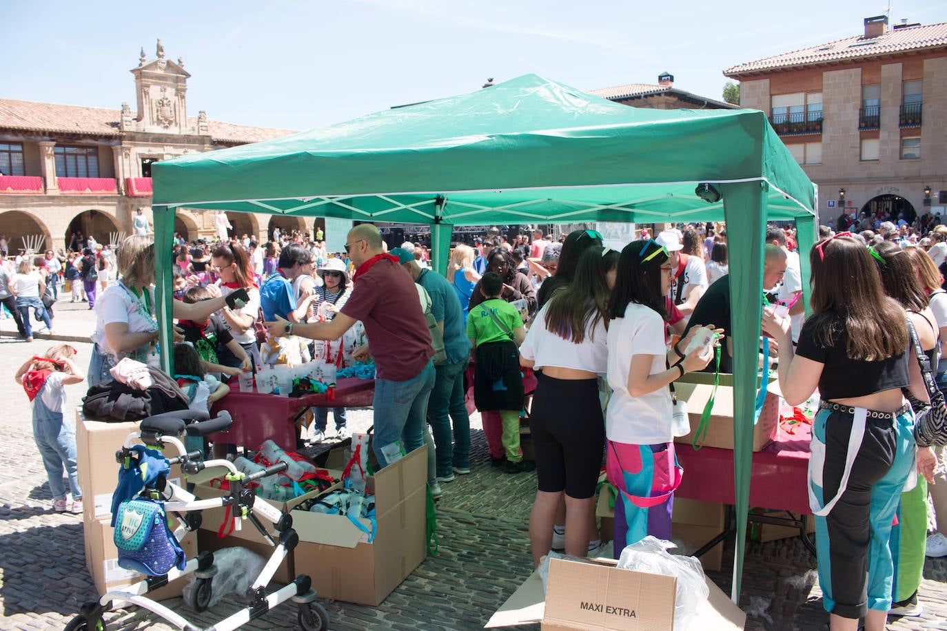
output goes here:
[[[109, 525], [110, 520], [111, 517], [109, 519], [87, 519], [82, 524], [85, 538], [85, 567], [89, 570], [89, 574], [96, 584], [99, 596], [106, 591], [119, 589], [145, 579], [142, 574], [118, 567], [118, 549], [113, 540], [115, 529]], [[188, 533], [179, 543], [188, 559], [197, 555], [196, 533]], [[152, 591], [148, 594], [148, 597], [155, 601], [161, 601], [166, 598], [180, 596], [181, 590], [188, 584], [188, 580], [190, 580], [189, 576], [182, 576], [171, 581], [165, 587]]]

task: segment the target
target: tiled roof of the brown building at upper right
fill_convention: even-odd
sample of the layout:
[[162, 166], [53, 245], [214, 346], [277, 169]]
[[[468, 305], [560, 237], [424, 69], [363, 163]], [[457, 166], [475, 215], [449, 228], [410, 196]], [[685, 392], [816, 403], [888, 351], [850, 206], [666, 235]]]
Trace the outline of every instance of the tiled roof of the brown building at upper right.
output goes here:
[[800, 48], [757, 61], [739, 63], [724, 70], [724, 76], [735, 78], [778, 68], [857, 60], [932, 48], [947, 48], [947, 22], [892, 28], [878, 37], [867, 38], [865, 35], [858, 35], [829, 44]]

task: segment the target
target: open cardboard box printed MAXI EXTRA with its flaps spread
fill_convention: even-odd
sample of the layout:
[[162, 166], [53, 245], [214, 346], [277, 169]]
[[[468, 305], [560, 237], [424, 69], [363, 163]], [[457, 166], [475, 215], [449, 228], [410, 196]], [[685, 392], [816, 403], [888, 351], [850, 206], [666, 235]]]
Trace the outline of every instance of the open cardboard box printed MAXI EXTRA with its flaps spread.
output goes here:
[[[542, 622], [544, 631], [672, 631], [677, 579], [618, 570], [615, 565], [616, 561], [609, 559], [552, 559], [546, 594], [534, 571], [493, 614], [487, 628]], [[746, 614], [720, 587], [705, 580], [710, 595], [698, 607], [689, 628], [742, 629]]]

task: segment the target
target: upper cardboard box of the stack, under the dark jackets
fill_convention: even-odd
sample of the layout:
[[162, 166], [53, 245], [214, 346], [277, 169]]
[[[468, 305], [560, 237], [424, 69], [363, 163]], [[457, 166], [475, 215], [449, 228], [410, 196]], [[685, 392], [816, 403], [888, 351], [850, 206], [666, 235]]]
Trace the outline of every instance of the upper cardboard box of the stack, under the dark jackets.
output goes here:
[[[116, 451], [130, 433], [138, 430], [138, 421], [105, 423], [85, 418], [76, 411], [76, 469], [82, 489], [82, 519], [112, 519], [112, 494], [118, 483]], [[170, 448], [169, 456], [177, 456]], [[181, 467], [174, 465], [168, 479], [180, 484]]]

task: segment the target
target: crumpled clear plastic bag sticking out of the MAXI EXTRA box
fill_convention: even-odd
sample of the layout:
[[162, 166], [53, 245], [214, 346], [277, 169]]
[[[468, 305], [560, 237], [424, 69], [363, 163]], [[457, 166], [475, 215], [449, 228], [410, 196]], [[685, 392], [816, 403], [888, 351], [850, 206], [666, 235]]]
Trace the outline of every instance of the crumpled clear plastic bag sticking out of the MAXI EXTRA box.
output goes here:
[[618, 567], [677, 577], [677, 600], [674, 605], [674, 628], [686, 629], [697, 607], [710, 594], [701, 562], [692, 556], [668, 552], [674, 544], [648, 535], [621, 551]]

